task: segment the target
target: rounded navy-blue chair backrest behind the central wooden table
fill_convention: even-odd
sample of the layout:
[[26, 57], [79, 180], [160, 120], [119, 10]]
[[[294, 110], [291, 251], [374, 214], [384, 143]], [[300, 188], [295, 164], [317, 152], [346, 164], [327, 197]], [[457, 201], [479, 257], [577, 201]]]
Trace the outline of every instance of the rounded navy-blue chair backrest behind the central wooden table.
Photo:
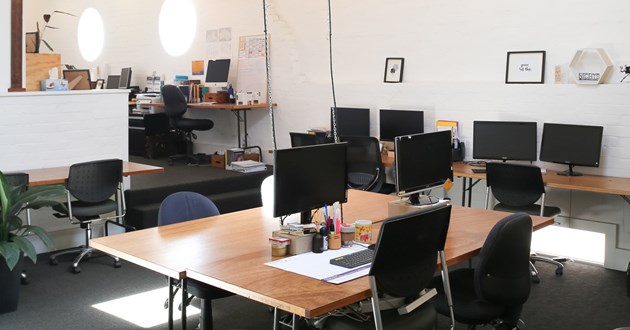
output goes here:
[[208, 197], [191, 191], [168, 195], [160, 204], [158, 226], [219, 215], [219, 209]]

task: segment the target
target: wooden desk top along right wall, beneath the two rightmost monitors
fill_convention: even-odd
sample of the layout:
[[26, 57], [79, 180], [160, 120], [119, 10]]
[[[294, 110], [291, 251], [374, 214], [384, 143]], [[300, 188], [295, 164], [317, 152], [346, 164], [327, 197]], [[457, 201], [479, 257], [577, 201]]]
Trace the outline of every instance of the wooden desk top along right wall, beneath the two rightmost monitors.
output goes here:
[[[453, 175], [465, 178], [485, 180], [485, 173], [473, 173], [474, 167], [462, 162], [453, 163]], [[588, 191], [604, 194], [630, 195], [630, 178], [582, 175], [582, 176], [562, 176], [558, 171], [547, 170], [543, 173], [543, 181], [547, 187]]]

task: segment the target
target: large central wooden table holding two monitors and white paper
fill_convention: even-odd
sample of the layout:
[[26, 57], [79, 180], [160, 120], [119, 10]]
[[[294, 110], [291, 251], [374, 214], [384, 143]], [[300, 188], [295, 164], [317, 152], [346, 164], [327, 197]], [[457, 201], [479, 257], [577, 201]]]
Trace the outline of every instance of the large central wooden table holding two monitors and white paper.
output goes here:
[[[350, 190], [344, 221], [370, 219], [374, 221], [373, 232], [378, 233], [380, 222], [387, 217], [387, 203], [395, 199]], [[445, 249], [448, 264], [478, 254], [492, 226], [506, 215], [453, 207]], [[534, 230], [553, 223], [551, 218], [533, 220]], [[366, 278], [334, 285], [265, 266], [275, 259], [268, 237], [277, 228], [277, 220], [255, 208], [96, 238], [91, 245], [156, 272], [196, 279], [307, 318], [370, 296]]]

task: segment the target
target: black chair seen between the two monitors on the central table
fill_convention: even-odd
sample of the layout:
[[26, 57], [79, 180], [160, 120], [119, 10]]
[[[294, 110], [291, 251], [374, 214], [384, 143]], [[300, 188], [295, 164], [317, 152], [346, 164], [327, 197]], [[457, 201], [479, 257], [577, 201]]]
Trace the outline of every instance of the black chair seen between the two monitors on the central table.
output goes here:
[[340, 140], [348, 143], [348, 186], [379, 192], [385, 183], [385, 166], [378, 139], [371, 136], [343, 136]]

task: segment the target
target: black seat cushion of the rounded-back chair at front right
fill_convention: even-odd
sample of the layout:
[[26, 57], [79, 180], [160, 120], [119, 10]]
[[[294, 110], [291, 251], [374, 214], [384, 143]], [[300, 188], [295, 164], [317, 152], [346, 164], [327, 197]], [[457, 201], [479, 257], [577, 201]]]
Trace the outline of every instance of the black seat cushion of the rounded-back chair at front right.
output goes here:
[[[457, 269], [449, 273], [455, 319], [466, 324], [483, 324], [493, 321], [505, 313], [506, 308], [477, 298], [473, 274], [474, 269], [470, 268]], [[442, 315], [450, 315], [442, 286], [442, 277], [436, 276], [431, 285], [440, 293], [431, 300], [435, 309]]]

